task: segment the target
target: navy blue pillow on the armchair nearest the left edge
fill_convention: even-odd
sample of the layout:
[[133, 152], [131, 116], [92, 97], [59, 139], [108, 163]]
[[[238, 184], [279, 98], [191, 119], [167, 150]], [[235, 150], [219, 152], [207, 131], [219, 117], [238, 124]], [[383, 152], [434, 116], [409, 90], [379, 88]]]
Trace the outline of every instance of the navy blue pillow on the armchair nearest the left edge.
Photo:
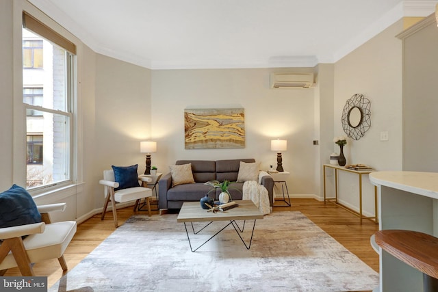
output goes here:
[[0, 228], [41, 222], [32, 196], [18, 185], [0, 194]]

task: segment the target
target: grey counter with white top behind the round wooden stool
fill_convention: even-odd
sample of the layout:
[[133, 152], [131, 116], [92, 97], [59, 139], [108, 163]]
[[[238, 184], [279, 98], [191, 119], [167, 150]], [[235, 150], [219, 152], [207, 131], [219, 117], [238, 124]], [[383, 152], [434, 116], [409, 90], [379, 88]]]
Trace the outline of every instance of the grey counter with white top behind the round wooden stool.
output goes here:
[[[438, 235], [438, 226], [436, 223], [434, 226], [438, 215], [438, 173], [373, 172], [370, 181], [378, 187], [379, 230], [412, 230]], [[422, 291], [422, 272], [376, 248], [374, 238], [373, 235], [371, 243], [378, 250], [380, 261], [379, 291]]]

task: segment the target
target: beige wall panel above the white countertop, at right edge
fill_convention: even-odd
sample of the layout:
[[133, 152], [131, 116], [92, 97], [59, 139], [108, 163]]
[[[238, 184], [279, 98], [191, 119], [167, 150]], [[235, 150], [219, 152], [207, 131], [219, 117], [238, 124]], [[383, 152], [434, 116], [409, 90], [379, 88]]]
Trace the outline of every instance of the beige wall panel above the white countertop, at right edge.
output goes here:
[[404, 33], [404, 170], [438, 172], [435, 15]]

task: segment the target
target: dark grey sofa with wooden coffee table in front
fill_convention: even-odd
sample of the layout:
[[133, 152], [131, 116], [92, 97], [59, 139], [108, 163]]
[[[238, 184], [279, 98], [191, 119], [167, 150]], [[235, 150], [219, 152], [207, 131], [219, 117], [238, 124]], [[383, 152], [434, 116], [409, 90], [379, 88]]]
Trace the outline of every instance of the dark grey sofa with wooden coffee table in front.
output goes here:
[[[158, 182], [159, 209], [181, 209], [183, 202], [199, 201], [211, 187], [204, 185], [207, 181], [237, 181], [240, 161], [255, 162], [255, 159], [228, 159], [228, 160], [178, 160], [176, 165], [192, 163], [192, 173], [195, 183], [175, 185], [172, 187], [170, 172], [162, 176]], [[263, 175], [265, 174], [265, 175]], [[267, 172], [261, 172], [261, 184], [268, 189], [269, 202], [274, 204], [274, 180]], [[232, 183], [229, 192], [233, 200], [242, 200], [242, 187], [244, 183]], [[239, 189], [239, 191], [235, 189]], [[211, 191], [210, 198], [219, 200], [220, 189]]]

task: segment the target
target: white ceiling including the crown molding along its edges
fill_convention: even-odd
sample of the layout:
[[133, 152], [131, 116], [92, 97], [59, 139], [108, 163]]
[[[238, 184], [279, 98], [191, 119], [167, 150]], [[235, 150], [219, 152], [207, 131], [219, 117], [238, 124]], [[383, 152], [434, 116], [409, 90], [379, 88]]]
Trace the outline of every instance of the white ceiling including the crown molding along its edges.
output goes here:
[[151, 69], [333, 63], [437, 1], [29, 0], [97, 53]]

